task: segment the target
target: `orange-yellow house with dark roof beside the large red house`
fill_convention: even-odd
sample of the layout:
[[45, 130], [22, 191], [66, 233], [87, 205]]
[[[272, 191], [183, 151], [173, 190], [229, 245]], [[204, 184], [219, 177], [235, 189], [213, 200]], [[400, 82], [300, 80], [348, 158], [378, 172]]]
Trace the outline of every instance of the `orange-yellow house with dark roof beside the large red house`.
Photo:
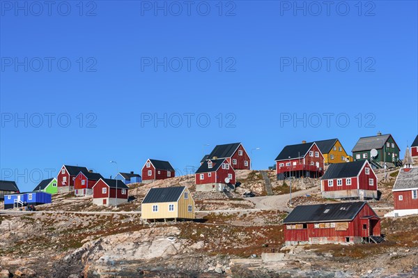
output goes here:
[[353, 157], [346, 153], [339, 139], [315, 141], [316, 146], [323, 153], [325, 164], [352, 162]]

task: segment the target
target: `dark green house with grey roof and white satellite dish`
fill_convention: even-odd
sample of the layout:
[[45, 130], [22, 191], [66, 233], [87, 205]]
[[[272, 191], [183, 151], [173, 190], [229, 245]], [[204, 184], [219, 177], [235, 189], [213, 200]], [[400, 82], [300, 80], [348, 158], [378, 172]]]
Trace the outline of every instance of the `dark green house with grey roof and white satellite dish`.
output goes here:
[[396, 167], [399, 161], [399, 147], [391, 134], [361, 137], [353, 150], [353, 160], [369, 160], [375, 168]]

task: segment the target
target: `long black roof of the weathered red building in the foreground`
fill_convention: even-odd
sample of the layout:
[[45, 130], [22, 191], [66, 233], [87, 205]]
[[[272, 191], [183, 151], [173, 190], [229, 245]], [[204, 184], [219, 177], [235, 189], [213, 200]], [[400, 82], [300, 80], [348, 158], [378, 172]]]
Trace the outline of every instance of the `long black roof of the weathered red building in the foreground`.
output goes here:
[[366, 205], [366, 202], [297, 206], [283, 220], [283, 223], [350, 221], [354, 219], [364, 205]]

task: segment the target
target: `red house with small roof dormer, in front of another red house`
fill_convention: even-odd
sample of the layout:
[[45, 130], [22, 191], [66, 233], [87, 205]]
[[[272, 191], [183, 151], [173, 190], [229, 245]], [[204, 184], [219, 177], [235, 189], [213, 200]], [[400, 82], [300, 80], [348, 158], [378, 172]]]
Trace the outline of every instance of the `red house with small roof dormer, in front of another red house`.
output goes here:
[[206, 160], [194, 174], [196, 191], [224, 190], [235, 185], [235, 170], [226, 158]]

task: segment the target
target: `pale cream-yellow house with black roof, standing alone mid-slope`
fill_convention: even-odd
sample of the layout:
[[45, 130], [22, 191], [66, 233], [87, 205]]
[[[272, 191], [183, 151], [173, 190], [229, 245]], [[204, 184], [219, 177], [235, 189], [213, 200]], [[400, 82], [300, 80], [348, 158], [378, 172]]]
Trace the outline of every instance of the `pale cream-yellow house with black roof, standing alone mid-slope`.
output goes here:
[[194, 200], [185, 186], [151, 188], [141, 203], [141, 218], [194, 219]]

